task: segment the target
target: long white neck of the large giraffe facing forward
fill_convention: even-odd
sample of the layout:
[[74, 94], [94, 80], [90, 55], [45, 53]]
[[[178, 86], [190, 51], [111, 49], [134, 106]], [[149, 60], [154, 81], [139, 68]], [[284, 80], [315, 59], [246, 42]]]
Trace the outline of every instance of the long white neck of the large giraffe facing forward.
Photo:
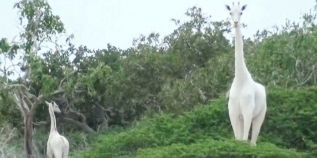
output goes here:
[[241, 27], [235, 27], [235, 31], [235, 79], [241, 81], [248, 76], [249, 71], [244, 62]]

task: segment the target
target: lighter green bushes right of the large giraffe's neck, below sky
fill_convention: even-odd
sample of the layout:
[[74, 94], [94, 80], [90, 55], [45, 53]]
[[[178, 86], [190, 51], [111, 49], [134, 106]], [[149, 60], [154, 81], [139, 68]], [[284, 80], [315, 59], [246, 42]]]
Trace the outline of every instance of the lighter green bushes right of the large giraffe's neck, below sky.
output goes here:
[[262, 42], [249, 45], [247, 61], [258, 81], [283, 87], [316, 85], [315, 17], [304, 14], [302, 27], [287, 21], [282, 30], [267, 31]]

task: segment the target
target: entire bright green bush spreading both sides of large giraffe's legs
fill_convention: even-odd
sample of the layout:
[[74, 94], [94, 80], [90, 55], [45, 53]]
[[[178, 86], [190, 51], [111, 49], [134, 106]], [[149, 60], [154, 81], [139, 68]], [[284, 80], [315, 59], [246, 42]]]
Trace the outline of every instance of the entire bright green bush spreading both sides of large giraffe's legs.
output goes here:
[[[316, 156], [316, 103], [317, 88], [268, 88], [268, 112], [256, 148], [229, 140], [233, 133], [227, 100], [221, 98], [183, 115], [161, 113], [143, 118], [129, 130], [101, 135], [90, 150], [77, 157], [147, 157], [145, 153], [156, 153], [152, 157], [306, 157], [281, 148]], [[186, 151], [184, 155], [177, 154], [179, 149]]]

